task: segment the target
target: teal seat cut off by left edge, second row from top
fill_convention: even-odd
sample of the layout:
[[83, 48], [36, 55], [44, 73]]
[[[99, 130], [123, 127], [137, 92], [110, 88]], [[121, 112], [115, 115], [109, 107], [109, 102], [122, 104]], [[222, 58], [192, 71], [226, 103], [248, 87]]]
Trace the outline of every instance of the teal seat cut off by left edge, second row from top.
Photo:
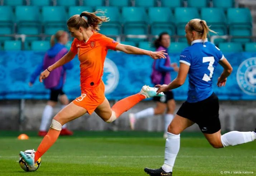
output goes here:
[[[0, 34], [13, 34], [14, 15], [10, 6], [0, 6]], [[11, 37], [0, 36], [0, 41], [11, 40]]]

